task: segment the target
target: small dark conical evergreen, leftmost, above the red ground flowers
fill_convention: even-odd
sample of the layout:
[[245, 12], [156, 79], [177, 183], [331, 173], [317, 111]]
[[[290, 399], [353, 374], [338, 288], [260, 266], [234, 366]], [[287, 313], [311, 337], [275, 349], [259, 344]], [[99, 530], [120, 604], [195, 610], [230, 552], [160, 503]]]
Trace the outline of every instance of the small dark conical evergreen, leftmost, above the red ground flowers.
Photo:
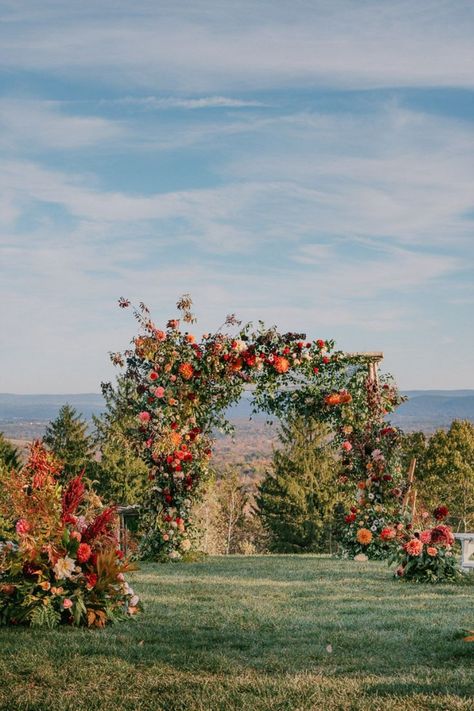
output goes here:
[[68, 404], [63, 405], [57, 418], [47, 426], [43, 442], [63, 462], [65, 478], [75, 476], [91, 461], [93, 443], [87, 433], [87, 423]]

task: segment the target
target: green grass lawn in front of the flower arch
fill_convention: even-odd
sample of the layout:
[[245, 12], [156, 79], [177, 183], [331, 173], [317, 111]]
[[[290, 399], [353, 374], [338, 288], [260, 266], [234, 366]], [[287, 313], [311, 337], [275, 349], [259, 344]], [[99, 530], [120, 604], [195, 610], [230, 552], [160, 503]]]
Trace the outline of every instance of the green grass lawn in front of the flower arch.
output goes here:
[[474, 588], [318, 556], [142, 566], [105, 631], [0, 628], [0, 709], [473, 709]]

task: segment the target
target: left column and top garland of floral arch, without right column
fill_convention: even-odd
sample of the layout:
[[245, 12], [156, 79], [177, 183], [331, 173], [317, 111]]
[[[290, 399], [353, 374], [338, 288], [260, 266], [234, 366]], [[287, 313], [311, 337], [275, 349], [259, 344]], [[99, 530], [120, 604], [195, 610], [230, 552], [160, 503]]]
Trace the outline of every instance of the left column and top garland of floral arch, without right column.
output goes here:
[[[127, 308], [128, 300], [121, 299], [120, 306]], [[231, 429], [225, 412], [247, 384], [255, 388], [255, 409], [277, 417], [290, 411], [316, 415], [343, 442], [341, 422], [353, 403], [348, 366], [367, 370], [335, 351], [332, 341], [308, 341], [262, 324], [257, 330], [244, 326], [235, 335], [218, 330], [197, 341], [181, 327], [195, 320], [190, 307], [189, 297], [181, 300], [182, 317], [161, 329], [140, 305], [134, 311], [140, 333], [133, 347], [111, 355], [115, 364], [126, 365], [125, 377], [135, 383], [131, 436], [150, 480], [142, 511], [146, 557], [178, 559], [192, 547], [192, 505], [207, 475], [213, 431]], [[236, 324], [232, 316], [224, 325]]]

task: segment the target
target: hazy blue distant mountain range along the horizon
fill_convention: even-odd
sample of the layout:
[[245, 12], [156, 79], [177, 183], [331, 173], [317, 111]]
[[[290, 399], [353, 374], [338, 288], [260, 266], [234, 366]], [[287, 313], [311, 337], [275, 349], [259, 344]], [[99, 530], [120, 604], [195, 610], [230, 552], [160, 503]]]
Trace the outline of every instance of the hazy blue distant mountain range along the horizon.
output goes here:
[[[392, 416], [394, 424], [407, 431], [432, 432], [448, 427], [454, 419], [474, 421], [474, 390], [409, 390], [403, 393], [408, 401]], [[98, 415], [104, 401], [97, 393], [66, 395], [15, 395], [0, 393], [0, 430], [12, 438], [41, 436], [47, 422], [57, 417], [65, 403], [74, 407], [86, 420]], [[251, 393], [244, 393], [240, 402], [229, 409], [232, 420], [245, 420], [252, 414]], [[254, 416], [264, 420], [265, 414]]]

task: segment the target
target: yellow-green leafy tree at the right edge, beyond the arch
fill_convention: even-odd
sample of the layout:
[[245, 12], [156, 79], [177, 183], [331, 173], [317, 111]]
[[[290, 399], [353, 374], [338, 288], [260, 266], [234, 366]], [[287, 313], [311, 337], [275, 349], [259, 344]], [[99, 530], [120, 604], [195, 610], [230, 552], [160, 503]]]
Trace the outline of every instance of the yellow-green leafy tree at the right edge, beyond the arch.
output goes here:
[[454, 420], [447, 432], [438, 430], [428, 442], [423, 466], [416, 476], [423, 504], [444, 504], [449, 521], [459, 531], [474, 527], [474, 425]]

